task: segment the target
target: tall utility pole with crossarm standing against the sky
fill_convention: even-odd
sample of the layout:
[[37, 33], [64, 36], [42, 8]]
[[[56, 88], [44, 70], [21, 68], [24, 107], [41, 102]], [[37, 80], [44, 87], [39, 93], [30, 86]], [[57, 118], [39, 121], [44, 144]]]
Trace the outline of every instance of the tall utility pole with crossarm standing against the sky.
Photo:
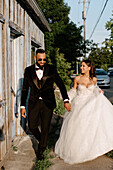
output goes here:
[[86, 44], [85, 44], [85, 42], [86, 42], [86, 23], [85, 23], [85, 21], [86, 21], [86, 10], [85, 10], [85, 3], [89, 3], [89, 1], [85, 1], [85, 0], [83, 0], [83, 1], [80, 1], [79, 0], [79, 3], [83, 3], [83, 11], [82, 11], [82, 19], [83, 19], [83, 23], [84, 23], [84, 58], [86, 58]]

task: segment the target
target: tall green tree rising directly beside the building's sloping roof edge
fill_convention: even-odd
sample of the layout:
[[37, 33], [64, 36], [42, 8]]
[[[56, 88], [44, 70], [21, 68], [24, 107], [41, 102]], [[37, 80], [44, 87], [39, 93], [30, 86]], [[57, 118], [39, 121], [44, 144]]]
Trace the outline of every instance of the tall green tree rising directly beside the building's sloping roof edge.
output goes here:
[[54, 59], [55, 37], [63, 31], [65, 25], [69, 22], [70, 8], [67, 4], [64, 4], [63, 0], [37, 0], [37, 2], [52, 30], [45, 33], [45, 47], [51, 62], [56, 64]]

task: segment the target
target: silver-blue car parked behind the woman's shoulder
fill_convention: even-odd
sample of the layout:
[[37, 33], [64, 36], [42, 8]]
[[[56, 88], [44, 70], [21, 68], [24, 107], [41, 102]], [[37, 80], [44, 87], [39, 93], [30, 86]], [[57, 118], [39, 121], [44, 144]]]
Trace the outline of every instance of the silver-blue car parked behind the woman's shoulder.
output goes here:
[[97, 85], [110, 88], [110, 77], [104, 69], [96, 69]]

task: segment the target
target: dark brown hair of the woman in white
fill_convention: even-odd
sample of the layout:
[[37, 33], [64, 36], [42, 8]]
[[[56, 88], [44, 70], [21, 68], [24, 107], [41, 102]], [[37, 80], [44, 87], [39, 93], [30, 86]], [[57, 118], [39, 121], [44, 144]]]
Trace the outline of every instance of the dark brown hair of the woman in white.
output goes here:
[[96, 77], [96, 69], [94, 63], [89, 59], [84, 59], [82, 62], [86, 63], [88, 67], [90, 67], [89, 75], [92, 79], [93, 77]]

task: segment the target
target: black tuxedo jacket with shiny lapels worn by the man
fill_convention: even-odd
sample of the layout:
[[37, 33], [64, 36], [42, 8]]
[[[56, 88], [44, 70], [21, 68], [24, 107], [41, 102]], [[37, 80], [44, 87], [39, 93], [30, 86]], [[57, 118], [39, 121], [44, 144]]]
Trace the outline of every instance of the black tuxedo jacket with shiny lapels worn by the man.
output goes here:
[[27, 67], [24, 72], [24, 81], [23, 81], [22, 95], [21, 95], [21, 106], [26, 106], [26, 99], [30, 87], [28, 109], [31, 110], [34, 107], [34, 105], [39, 100], [39, 97], [42, 97], [47, 107], [49, 107], [50, 109], [54, 109], [56, 107], [54, 88], [53, 88], [54, 83], [56, 83], [56, 85], [60, 88], [63, 100], [69, 99], [63, 81], [59, 77], [59, 74], [57, 73], [54, 66], [48, 64], [45, 66], [43, 78], [41, 79], [41, 82], [37, 78], [36, 71], [35, 71], [35, 64]]

